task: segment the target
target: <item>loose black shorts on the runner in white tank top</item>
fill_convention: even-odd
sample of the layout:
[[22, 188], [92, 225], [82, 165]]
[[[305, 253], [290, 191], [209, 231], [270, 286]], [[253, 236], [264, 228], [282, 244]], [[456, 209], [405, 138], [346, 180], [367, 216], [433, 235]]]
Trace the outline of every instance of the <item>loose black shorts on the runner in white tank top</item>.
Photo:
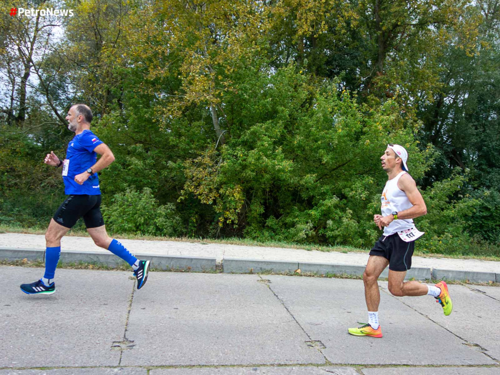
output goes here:
[[411, 268], [411, 256], [415, 241], [404, 242], [397, 233], [382, 235], [370, 250], [370, 255], [383, 256], [389, 260], [389, 269], [407, 271]]

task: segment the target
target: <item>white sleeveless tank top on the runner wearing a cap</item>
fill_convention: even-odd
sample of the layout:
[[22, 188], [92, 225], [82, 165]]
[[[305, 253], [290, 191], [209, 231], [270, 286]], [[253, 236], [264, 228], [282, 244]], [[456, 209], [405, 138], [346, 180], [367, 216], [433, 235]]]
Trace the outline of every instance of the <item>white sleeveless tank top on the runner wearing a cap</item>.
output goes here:
[[[393, 211], [401, 212], [413, 206], [406, 196], [405, 192], [397, 187], [397, 181], [406, 173], [402, 170], [397, 176], [385, 182], [382, 196], [382, 216], [390, 215]], [[397, 219], [393, 220], [388, 226], [383, 227], [383, 235], [391, 235], [403, 229], [411, 229], [415, 227], [413, 219]]]

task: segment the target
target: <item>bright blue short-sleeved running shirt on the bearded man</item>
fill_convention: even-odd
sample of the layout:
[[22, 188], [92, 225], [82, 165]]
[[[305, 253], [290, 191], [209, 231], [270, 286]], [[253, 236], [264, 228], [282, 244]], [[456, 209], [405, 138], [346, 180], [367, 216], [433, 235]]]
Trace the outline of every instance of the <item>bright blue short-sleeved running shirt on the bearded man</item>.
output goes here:
[[[88, 179], [79, 185], [74, 180], [76, 174], [83, 173], [97, 161], [97, 153], [94, 148], [102, 144], [102, 140], [97, 138], [90, 130], [83, 130], [81, 133], [74, 136], [67, 145], [66, 160], [67, 175], [63, 175], [64, 193], [69, 194], [88, 194], [99, 195], [99, 177], [97, 173], [92, 174]], [[62, 170], [64, 173], [65, 165]]]

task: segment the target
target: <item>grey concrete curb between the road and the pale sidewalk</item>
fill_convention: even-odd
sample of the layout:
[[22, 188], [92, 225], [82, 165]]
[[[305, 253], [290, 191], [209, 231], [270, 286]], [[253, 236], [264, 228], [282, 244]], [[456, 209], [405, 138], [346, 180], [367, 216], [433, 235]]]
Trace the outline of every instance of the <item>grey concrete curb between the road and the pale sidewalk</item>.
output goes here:
[[[33, 248], [0, 247], [0, 259], [6, 260], [43, 260], [44, 250]], [[184, 255], [157, 255], [138, 254], [141, 259], [148, 259], [152, 262], [152, 269], [177, 270], [177, 271], [215, 271], [216, 259], [214, 257], [193, 257]], [[124, 264], [121, 259], [112, 253], [72, 251], [61, 252], [60, 261], [63, 263], [92, 263], [104, 264], [109, 267], [116, 267]], [[224, 258], [222, 259], [222, 271], [224, 273], [293, 273], [300, 268], [302, 273], [315, 274], [347, 274], [361, 276], [365, 265], [361, 264], [335, 264], [335, 263], [314, 263], [287, 260], [262, 260], [244, 258]], [[387, 277], [388, 269], [385, 269], [380, 277]], [[500, 282], [500, 273], [463, 271], [453, 269], [413, 267], [406, 273], [406, 279], [416, 280], [445, 279], [472, 282]]]

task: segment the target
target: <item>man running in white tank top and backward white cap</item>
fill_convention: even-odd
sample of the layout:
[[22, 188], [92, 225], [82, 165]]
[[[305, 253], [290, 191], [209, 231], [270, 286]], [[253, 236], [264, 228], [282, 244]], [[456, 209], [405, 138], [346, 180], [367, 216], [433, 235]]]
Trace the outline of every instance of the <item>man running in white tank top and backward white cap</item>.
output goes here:
[[389, 291], [393, 295], [429, 294], [441, 304], [445, 315], [449, 315], [452, 310], [444, 281], [434, 286], [418, 281], [403, 281], [406, 271], [411, 267], [414, 240], [423, 234], [416, 230], [413, 218], [426, 214], [427, 208], [415, 181], [407, 173], [408, 153], [404, 147], [388, 144], [380, 159], [388, 180], [381, 195], [382, 214], [373, 215], [373, 221], [379, 229], [383, 227], [383, 234], [371, 249], [363, 273], [368, 323], [358, 328], [348, 328], [348, 332], [356, 336], [382, 337], [378, 323], [380, 292], [377, 279], [387, 265]]

